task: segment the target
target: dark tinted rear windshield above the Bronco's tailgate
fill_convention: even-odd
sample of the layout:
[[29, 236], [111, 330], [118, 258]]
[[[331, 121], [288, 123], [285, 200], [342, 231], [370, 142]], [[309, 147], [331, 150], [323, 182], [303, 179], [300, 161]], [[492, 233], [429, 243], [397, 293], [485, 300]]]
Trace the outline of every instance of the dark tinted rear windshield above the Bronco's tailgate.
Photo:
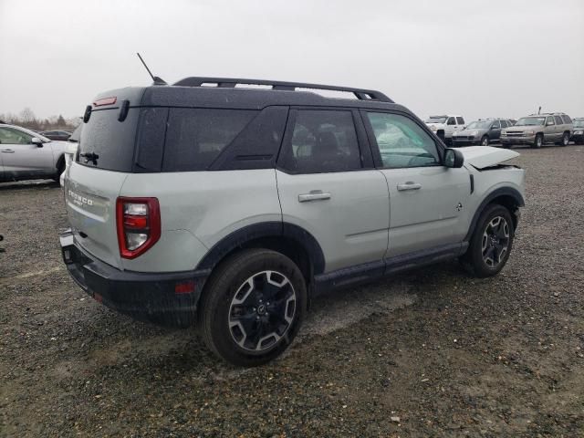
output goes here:
[[93, 110], [84, 125], [77, 161], [107, 171], [131, 172], [140, 110], [132, 108], [123, 122], [120, 110]]

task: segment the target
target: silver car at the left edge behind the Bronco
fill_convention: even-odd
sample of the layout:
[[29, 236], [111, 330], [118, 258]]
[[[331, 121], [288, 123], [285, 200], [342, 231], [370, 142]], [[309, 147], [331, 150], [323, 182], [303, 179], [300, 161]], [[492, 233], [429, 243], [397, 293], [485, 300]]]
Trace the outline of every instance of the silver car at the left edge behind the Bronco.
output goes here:
[[66, 145], [33, 130], [0, 125], [0, 182], [49, 178], [58, 182], [65, 169]]

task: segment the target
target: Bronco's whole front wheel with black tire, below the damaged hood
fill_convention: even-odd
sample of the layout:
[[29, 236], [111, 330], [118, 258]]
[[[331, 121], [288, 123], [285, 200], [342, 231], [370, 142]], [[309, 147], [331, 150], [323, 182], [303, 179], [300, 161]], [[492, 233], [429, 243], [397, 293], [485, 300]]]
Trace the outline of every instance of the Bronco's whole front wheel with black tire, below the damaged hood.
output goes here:
[[[493, 224], [499, 224], [500, 229], [494, 228]], [[468, 250], [460, 261], [474, 276], [495, 276], [506, 265], [514, 236], [515, 227], [509, 210], [499, 204], [489, 204], [479, 217]]]

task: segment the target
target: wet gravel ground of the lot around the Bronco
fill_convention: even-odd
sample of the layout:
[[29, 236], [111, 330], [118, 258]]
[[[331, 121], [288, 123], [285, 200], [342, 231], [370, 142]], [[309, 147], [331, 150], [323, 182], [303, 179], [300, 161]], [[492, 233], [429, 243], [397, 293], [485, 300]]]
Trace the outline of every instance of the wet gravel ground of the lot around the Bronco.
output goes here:
[[501, 275], [453, 262], [320, 297], [253, 370], [86, 297], [60, 261], [61, 190], [0, 184], [0, 435], [583, 436], [584, 147], [520, 152]]

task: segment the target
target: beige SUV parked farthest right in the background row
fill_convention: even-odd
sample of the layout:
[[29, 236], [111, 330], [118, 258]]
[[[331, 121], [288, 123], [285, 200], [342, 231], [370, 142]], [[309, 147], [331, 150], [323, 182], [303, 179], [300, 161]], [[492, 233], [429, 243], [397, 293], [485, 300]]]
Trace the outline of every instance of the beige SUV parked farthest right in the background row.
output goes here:
[[567, 146], [573, 130], [572, 120], [563, 112], [532, 114], [517, 120], [512, 127], [501, 131], [501, 145], [528, 144], [541, 148], [546, 143]]

